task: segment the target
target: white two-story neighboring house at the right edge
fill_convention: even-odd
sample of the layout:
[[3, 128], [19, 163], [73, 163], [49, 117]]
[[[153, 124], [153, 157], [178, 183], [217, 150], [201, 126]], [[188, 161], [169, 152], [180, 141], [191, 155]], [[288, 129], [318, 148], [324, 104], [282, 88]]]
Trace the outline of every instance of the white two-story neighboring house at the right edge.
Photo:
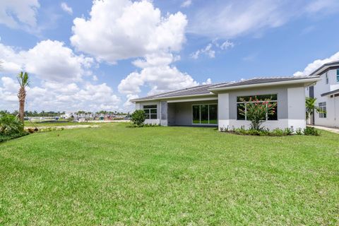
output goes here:
[[326, 110], [326, 114], [314, 113], [311, 124], [339, 127], [339, 61], [323, 64], [310, 76], [320, 76], [321, 81], [307, 88], [307, 97], [315, 97], [316, 105]]

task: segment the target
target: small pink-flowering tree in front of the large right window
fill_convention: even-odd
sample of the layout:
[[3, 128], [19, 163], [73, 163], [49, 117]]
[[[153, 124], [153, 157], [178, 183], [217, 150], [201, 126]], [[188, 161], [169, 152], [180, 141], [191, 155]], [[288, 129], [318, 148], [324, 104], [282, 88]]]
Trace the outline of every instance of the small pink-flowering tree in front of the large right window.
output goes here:
[[[241, 101], [246, 102], [245, 100]], [[270, 102], [270, 99], [258, 100], [257, 97], [254, 97], [252, 100], [252, 97], [250, 97], [249, 102], [242, 104], [239, 108], [239, 114], [251, 121], [251, 129], [261, 130], [261, 124], [266, 121], [266, 115], [275, 114], [276, 106], [277, 103]]]

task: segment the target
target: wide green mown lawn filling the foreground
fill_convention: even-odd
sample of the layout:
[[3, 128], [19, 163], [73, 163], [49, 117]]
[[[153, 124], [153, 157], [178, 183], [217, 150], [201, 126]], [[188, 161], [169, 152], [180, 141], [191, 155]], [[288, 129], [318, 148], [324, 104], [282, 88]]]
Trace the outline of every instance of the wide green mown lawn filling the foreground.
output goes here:
[[0, 225], [338, 225], [339, 135], [100, 128], [0, 144]]

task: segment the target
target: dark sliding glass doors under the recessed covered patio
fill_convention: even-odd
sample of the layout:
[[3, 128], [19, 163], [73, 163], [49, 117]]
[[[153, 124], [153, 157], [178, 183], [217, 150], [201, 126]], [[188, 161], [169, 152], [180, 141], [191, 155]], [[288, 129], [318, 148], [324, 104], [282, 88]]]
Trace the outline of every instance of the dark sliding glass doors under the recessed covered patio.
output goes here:
[[193, 124], [218, 124], [218, 105], [192, 105]]

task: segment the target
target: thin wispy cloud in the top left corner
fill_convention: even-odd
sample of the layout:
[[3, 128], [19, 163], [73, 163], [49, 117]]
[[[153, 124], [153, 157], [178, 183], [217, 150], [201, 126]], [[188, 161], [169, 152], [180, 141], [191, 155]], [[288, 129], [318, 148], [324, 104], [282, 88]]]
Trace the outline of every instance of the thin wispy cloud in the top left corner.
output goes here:
[[0, 23], [9, 28], [19, 28], [20, 25], [35, 27], [39, 7], [38, 0], [2, 0]]

